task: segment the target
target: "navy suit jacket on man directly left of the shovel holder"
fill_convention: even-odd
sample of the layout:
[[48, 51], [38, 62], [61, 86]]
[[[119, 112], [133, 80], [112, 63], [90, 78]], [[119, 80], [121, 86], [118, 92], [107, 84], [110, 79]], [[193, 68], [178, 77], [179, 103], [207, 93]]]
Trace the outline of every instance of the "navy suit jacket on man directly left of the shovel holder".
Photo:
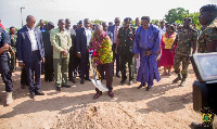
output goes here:
[[81, 54], [87, 53], [87, 37], [84, 27], [76, 30], [76, 49]]

